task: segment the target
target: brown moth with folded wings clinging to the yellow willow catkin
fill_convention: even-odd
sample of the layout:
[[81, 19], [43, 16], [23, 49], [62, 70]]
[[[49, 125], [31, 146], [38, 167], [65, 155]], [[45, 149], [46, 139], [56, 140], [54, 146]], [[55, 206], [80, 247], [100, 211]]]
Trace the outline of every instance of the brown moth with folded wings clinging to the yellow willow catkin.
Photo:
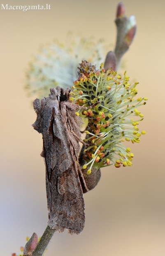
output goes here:
[[88, 188], [78, 161], [82, 122], [75, 114], [87, 107], [70, 102], [68, 88], [58, 86], [50, 92], [49, 97], [33, 102], [37, 114], [33, 128], [43, 136], [41, 156], [46, 166], [48, 225], [58, 232], [67, 229], [70, 234], [79, 234], [85, 224], [83, 192], [98, 184], [100, 170], [92, 170]]

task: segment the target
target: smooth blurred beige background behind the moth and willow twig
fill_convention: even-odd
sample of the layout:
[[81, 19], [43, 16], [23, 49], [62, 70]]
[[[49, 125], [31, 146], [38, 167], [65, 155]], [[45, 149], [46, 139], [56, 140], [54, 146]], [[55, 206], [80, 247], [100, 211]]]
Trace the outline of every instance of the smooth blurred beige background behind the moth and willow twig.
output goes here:
[[[116, 41], [117, 0], [3, 0], [6, 5], [45, 5], [51, 10], [0, 10], [0, 254], [19, 253], [26, 236], [46, 228], [42, 136], [23, 89], [25, 70], [39, 45], [74, 35]], [[81, 235], [56, 233], [47, 256], [165, 255], [165, 1], [125, 0], [137, 34], [124, 56], [125, 69], [148, 97], [140, 124], [146, 135], [131, 146], [133, 166], [102, 169], [98, 186], [85, 194]]]

